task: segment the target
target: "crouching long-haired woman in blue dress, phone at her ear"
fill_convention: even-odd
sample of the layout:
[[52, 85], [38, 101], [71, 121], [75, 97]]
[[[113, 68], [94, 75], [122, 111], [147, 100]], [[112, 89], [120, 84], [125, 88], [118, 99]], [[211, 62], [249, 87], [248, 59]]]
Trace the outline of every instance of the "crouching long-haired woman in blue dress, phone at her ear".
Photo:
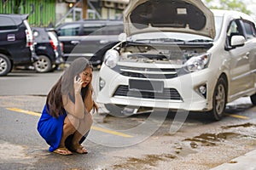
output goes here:
[[92, 66], [88, 59], [75, 59], [50, 89], [38, 133], [49, 151], [61, 155], [87, 153], [82, 146], [92, 125], [90, 111], [97, 110], [92, 99]]

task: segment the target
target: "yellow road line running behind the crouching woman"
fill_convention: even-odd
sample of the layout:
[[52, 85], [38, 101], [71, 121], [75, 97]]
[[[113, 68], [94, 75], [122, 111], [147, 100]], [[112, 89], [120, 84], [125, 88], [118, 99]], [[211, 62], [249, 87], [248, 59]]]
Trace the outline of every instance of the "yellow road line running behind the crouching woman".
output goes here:
[[[25, 113], [25, 114], [27, 114], [27, 115], [41, 116], [41, 114], [39, 114], [39, 113], [37, 113], [37, 112], [34, 112], [34, 111], [25, 111], [25, 110], [18, 109], [18, 108], [6, 108], [6, 109], [9, 110], [9, 111], [16, 111], [16, 112], [20, 112], [20, 113]], [[108, 130], [108, 129], [102, 128], [102, 127], [95, 127], [95, 126], [92, 126], [91, 129], [96, 130], [96, 131], [100, 131], [100, 132], [103, 132], [103, 133], [114, 134], [114, 135], [121, 136], [121, 137], [125, 137], [125, 138], [132, 138], [132, 137], [133, 137], [133, 136], [131, 136], [131, 135], [129, 135], [129, 134], [119, 133], [119, 132], [112, 131], [112, 130]]]

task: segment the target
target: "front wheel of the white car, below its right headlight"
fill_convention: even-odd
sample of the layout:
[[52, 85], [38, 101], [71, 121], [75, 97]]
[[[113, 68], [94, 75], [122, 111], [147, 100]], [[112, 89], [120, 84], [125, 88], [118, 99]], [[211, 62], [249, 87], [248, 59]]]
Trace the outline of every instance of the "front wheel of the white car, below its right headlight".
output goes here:
[[223, 77], [218, 79], [214, 88], [212, 98], [212, 111], [210, 111], [213, 120], [219, 121], [224, 116], [224, 110], [227, 102], [227, 83]]

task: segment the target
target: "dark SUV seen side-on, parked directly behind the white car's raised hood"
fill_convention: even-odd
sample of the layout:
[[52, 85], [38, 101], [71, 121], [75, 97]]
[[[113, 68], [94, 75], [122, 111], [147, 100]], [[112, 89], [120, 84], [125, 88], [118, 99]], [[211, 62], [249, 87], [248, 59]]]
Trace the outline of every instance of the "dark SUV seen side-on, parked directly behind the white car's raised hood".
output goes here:
[[55, 28], [63, 42], [67, 63], [78, 57], [90, 59], [92, 65], [102, 65], [105, 52], [118, 42], [123, 32], [122, 20], [80, 20]]

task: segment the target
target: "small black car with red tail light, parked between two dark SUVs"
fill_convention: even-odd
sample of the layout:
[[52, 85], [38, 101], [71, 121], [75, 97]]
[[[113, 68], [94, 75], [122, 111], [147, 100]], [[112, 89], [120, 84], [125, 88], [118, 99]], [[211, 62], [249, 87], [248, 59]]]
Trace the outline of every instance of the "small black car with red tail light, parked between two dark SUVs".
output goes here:
[[64, 62], [63, 47], [54, 29], [32, 27], [38, 60], [33, 66], [37, 72], [53, 71]]

